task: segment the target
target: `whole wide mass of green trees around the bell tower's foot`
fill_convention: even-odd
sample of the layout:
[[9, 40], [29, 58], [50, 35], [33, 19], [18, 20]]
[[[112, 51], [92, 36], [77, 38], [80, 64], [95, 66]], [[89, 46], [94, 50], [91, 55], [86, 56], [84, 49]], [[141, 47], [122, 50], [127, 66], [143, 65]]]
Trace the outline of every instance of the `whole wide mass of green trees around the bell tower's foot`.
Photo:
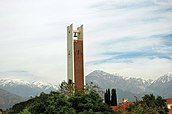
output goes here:
[[[63, 83], [64, 84], [64, 83]], [[67, 83], [65, 83], [67, 84]], [[69, 87], [69, 86], [64, 86]], [[111, 107], [103, 103], [95, 91], [72, 92], [65, 91], [41, 93], [28, 101], [18, 103], [6, 114], [113, 114]], [[65, 92], [67, 94], [65, 94]]]

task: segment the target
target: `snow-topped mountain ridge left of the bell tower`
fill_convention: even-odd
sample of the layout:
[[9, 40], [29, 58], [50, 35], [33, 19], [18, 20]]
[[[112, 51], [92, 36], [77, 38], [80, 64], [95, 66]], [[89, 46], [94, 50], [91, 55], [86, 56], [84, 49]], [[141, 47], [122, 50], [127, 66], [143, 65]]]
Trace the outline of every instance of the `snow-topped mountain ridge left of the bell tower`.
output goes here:
[[20, 79], [0, 79], [0, 88], [20, 95], [29, 97], [39, 95], [41, 92], [56, 91], [58, 86], [44, 82], [29, 82]]

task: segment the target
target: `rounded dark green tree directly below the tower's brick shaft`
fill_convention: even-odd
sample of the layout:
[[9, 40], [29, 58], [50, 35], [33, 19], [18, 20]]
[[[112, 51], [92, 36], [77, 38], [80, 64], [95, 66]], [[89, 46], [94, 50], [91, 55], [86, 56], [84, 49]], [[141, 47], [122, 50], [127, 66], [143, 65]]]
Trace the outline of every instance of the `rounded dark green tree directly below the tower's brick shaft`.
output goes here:
[[115, 113], [110, 106], [103, 103], [102, 98], [94, 91], [91, 91], [89, 94], [75, 93], [68, 100], [71, 103], [71, 107], [76, 110], [76, 113]]

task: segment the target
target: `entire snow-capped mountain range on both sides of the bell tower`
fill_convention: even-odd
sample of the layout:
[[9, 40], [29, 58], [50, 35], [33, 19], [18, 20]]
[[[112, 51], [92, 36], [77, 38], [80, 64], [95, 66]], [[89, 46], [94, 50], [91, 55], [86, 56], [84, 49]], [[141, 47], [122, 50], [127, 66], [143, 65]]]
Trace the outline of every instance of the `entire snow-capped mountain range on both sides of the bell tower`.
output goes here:
[[[157, 80], [144, 80], [141, 78], [123, 77], [119, 74], [109, 74], [104, 71], [96, 70], [88, 74], [85, 78], [86, 83], [93, 82], [100, 86], [104, 91], [108, 88], [116, 88], [118, 99], [134, 96], [141, 96], [146, 93], [154, 93], [162, 97], [172, 96], [172, 73], [159, 77]], [[56, 91], [57, 85], [44, 82], [29, 82], [20, 79], [0, 79], [0, 88], [12, 92], [22, 97], [39, 95], [41, 92]]]

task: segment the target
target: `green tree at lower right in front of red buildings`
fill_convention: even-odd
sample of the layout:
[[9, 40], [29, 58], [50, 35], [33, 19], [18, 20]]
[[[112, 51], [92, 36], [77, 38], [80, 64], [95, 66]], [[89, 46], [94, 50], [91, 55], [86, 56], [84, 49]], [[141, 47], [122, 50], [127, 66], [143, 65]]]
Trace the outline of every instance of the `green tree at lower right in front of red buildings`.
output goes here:
[[131, 104], [127, 111], [137, 114], [167, 114], [168, 108], [161, 96], [145, 95], [141, 101]]

